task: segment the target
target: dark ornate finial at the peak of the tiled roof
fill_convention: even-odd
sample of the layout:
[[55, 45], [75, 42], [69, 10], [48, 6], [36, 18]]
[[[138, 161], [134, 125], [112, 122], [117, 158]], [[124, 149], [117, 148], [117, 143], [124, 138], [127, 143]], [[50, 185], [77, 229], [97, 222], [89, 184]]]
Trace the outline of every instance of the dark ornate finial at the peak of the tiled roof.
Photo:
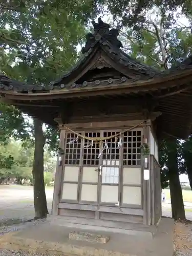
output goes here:
[[101, 44], [103, 42], [109, 42], [113, 47], [116, 48], [122, 47], [121, 41], [117, 39], [117, 36], [119, 35], [119, 28], [110, 29], [110, 25], [104, 23], [100, 17], [98, 18], [98, 23], [93, 21], [92, 24], [94, 27], [94, 33], [87, 34], [86, 46], [81, 50], [83, 54], [88, 52], [97, 41], [99, 41]]

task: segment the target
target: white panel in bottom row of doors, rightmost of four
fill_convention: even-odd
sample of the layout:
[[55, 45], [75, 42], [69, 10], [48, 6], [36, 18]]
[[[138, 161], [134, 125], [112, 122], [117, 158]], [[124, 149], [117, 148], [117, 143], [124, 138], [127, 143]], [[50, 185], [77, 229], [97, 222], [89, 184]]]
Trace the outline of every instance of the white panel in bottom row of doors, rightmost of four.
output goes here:
[[141, 188], [123, 186], [123, 204], [141, 205]]

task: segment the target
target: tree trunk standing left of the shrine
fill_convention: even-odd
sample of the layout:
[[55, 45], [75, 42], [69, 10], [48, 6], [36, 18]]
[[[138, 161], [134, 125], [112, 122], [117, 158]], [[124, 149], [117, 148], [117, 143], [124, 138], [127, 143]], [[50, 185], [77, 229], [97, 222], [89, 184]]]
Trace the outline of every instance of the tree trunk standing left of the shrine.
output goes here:
[[35, 218], [46, 218], [48, 212], [44, 183], [44, 145], [45, 137], [42, 131], [42, 122], [36, 118], [34, 121], [35, 150], [33, 159], [33, 194]]

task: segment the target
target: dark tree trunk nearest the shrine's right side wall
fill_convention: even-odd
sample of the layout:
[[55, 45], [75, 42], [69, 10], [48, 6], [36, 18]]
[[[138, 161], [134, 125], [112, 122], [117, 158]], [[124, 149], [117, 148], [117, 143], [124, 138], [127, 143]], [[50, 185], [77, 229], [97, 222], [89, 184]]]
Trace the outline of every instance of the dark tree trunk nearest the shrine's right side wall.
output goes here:
[[170, 199], [172, 203], [172, 217], [175, 220], [185, 220], [185, 208], [179, 180], [177, 139], [167, 141], [167, 155]]

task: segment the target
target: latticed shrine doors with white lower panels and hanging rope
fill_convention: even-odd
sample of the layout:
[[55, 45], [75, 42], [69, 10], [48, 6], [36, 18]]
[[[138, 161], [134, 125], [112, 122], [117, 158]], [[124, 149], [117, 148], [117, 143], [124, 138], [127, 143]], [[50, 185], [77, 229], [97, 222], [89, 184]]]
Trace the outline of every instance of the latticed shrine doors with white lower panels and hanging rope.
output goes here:
[[61, 202], [142, 208], [141, 138], [142, 129], [67, 133]]

